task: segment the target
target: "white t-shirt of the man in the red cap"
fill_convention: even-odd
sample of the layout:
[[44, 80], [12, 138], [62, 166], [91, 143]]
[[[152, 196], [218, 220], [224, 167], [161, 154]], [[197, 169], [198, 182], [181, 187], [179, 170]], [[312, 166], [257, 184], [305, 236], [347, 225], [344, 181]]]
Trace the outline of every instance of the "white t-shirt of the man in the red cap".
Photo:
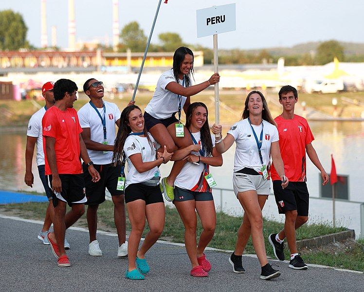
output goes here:
[[42, 118], [45, 114], [45, 107], [42, 107], [36, 113], [32, 115], [29, 120], [27, 136], [36, 137], [36, 165], [43, 165], [44, 162], [44, 151], [43, 151], [43, 128]]

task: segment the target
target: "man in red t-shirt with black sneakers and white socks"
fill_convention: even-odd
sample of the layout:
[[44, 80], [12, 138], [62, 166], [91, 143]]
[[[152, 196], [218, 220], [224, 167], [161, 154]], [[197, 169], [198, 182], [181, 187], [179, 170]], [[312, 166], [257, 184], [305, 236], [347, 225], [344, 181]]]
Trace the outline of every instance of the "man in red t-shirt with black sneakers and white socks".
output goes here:
[[286, 85], [278, 92], [283, 112], [274, 121], [278, 125], [279, 147], [284, 162], [285, 174], [290, 183], [283, 189], [282, 182], [274, 165], [271, 169], [273, 191], [279, 214], [285, 214], [284, 228], [278, 234], [268, 237], [273, 246], [274, 255], [284, 260], [283, 239], [287, 237], [291, 251], [289, 267], [306, 270], [301, 254], [297, 253], [296, 229], [309, 219], [309, 191], [306, 184], [306, 152], [312, 163], [320, 170], [323, 185], [328, 183], [328, 174], [321, 165], [311, 142], [314, 140], [307, 120], [294, 114], [294, 105], [298, 101], [297, 90]]

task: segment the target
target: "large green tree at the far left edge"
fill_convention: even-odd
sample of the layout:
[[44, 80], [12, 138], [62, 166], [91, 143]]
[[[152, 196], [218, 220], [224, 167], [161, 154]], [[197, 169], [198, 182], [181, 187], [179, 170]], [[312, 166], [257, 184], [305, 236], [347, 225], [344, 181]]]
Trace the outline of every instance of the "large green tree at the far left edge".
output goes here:
[[0, 50], [18, 50], [29, 47], [28, 28], [23, 17], [12, 10], [0, 11]]

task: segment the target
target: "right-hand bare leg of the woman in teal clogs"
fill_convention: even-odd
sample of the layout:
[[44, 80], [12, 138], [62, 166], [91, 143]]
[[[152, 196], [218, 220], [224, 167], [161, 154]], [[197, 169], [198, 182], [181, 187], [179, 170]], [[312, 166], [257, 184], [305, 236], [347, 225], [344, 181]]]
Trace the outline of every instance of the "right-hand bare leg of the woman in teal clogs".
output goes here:
[[146, 205], [146, 219], [148, 220], [150, 231], [146, 235], [146, 239], [137, 253], [139, 258], [145, 258], [146, 252], [161, 236], [164, 228], [164, 212], [163, 202]]

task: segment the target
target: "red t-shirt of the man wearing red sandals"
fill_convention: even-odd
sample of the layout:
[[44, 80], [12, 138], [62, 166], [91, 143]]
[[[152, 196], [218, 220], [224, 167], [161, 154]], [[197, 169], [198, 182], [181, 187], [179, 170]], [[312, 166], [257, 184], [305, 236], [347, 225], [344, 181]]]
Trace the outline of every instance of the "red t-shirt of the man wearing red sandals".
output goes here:
[[[55, 138], [55, 156], [59, 174], [82, 173], [79, 134], [82, 132], [77, 111], [52, 107], [42, 119], [43, 136]], [[52, 174], [47, 160], [46, 139], [43, 139], [45, 174]]]

